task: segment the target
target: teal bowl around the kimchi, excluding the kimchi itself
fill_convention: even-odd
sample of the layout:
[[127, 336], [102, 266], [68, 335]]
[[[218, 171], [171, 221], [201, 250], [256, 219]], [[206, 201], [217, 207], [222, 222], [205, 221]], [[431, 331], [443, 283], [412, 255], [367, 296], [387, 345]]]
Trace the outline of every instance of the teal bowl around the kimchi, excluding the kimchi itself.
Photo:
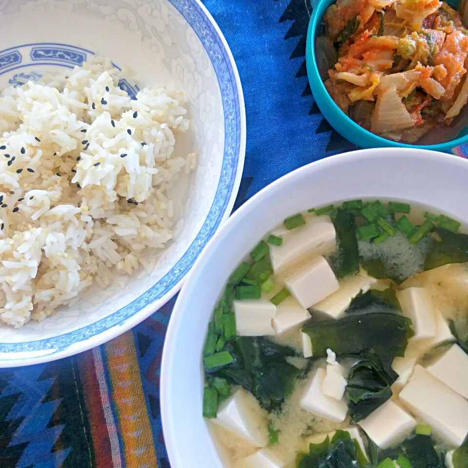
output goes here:
[[[448, 151], [455, 146], [468, 142], [468, 127], [463, 129], [458, 137], [445, 143], [437, 145], [410, 145], [391, 141], [386, 138], [378, 137], [366, 129], [359, 126], [351, 120], [333, 101], [328, 94], [322, 78], [318, 72], [317, 61], [315, 58], [315, 39], [319, 35], [322, 26], [322, 18], [327, 8], [335, 3], [336, 0], [319, 0], [315, 3], [312, 11], [309, 29], [307, 31], [306, 43], [306, 62], [307, 75], [311, 84], [312, 95], [323, 116], [330, 125], [343, 137], [354, 143], [360, 148], [382, 148], [382, 147], [400, 147], [400, 148], [423, 148], [433, 151]], [[453, 5], [453, 1], [449, 1]]]

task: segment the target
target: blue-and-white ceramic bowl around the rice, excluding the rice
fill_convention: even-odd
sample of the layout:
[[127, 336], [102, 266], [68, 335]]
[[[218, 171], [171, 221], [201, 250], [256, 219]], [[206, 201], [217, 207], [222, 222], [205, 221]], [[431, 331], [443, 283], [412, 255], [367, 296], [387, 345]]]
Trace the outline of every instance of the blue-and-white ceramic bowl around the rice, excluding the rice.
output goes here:
[[188, 97], [191, 130], [177, 150], [199, 152], [194, 175], [177, 181], [174, 242], [152, 273], [86, 292], [72, 306], [19, 330], [0, 326], [0, 367], [58, 359], [137, 325], [180, 288], [229, 216], [245, 154], [245, 109], [229, 47], [199, 0], [0, 0], [0, 89], [109, 57], [139, 86], [173, 81]]

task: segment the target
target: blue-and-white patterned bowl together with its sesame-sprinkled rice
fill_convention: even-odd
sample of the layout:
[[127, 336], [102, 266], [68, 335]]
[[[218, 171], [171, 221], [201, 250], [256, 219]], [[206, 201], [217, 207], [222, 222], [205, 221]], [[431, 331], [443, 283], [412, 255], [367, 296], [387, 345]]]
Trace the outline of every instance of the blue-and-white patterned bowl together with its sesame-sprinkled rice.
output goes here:
[[245, 109], [199, 0], [0, 1], [0, 367], [156, 312], [231, 213]]

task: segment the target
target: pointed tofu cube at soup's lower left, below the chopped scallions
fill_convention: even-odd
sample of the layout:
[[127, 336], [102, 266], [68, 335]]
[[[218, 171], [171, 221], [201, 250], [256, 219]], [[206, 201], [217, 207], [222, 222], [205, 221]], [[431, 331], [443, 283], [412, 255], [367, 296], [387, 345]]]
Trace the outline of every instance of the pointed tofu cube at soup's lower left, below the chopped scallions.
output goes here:
[[255, 447], [268, 444], [267, 417], [247, 390], [236, 390], [220, 405], [216, 418], [211, 421]]

